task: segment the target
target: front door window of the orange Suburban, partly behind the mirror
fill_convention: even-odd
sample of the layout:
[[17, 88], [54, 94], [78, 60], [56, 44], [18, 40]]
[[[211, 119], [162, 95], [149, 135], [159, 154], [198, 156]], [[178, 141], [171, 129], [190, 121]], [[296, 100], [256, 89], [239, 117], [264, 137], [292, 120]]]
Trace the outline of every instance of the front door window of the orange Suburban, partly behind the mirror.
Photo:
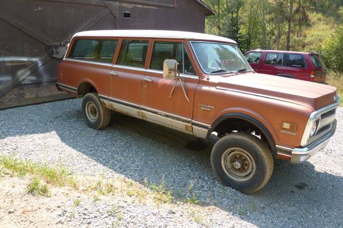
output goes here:
[[180, 73], [194, 74], [189, 55], [181, 42], [154, 42], [150, 68], [163, 71], [163, 62], [165, 60], [176, 60]]

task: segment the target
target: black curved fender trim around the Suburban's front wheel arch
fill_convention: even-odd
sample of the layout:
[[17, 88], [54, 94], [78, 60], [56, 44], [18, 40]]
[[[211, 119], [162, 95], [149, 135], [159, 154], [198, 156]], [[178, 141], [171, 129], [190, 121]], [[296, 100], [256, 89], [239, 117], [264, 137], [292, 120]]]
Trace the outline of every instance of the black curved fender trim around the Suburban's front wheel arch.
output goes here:
[[268, 141], [268, 146], [270, 147], [270, 152], [272, 152], [272, 155], [274, 155], [274, 157], [277, 156], [274, 138], [272, 137], [272, 134], [270, 134], [270, 131], [261, 122], [257, 121], [257, 119], [252, 118], [251, 116], [248, 116], [246, 114], [228, 113], [228, 114], [224, 114], [218, 117], [209, 128], [209, 131], [207, 131], [206, 138], [209, 138], [209, 136], [211, 135], [215, 127], [220, 125], [222, 121], [228, 120], [230, 118], [239, 118], [241, 120], [251, 123], [252, 125], [255, 125], [259, 129], [259, 131], [261, 131], [265, 135], [265, 138]]

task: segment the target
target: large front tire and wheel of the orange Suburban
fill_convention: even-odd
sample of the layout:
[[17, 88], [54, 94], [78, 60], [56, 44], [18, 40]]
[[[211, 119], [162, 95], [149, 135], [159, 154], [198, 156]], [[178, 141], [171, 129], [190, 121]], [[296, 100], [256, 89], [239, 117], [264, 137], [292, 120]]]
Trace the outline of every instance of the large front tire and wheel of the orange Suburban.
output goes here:
[[224, 185], [250, 194], [260, 190], [272, 176], [274, 161], [267, 145], [247, 133], [228, 134], [211, 152], [215, 177]]

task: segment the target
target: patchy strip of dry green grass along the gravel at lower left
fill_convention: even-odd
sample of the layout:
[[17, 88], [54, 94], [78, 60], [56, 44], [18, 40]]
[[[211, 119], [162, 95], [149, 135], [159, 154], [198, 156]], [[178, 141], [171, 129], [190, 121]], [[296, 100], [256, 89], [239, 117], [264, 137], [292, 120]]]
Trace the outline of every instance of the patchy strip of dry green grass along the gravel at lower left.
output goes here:
[[[171, 203], [171, 190], [167, 190], [167, 182], [163, 178], [157, 185], [148, 184], [145, 179], [144, 185], [124, 178], [105, 179], [99, 177], [75, 177], [64, 166], [50, 166], [38, 164], [29, 160], [21, 161], [13, 155], [0, 155], [0, 172], [5, 175], [17, 175], [23, 177], [30, 175], [32, 181], [28, 184], [26, 193], [49, 196], [49, 186], [69, 186], [75, 190], [89, 192], [93, 201], [99, 201], [101, 195], [121, 195], [132, 197], [144, 202], [153, 199], [156, 203]], [[152, 194], [147, 190], [150, 188]], [[79, 199], [74, 202], [75, 206], [81, 203]]]

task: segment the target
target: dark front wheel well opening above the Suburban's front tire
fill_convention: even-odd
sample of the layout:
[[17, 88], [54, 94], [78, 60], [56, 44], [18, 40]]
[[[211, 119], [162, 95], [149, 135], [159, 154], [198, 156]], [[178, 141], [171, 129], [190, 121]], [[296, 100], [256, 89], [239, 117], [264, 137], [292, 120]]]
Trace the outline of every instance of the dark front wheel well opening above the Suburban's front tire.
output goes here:
[[227, 134], [235, 132], [246, 132], [252, 134], [259, 138], [259, 140], [267, 144], [270, 151], [272, 152], [272, 155], [277, 155], [275, 142], [272, 138], [272, 135], [270, 134], [268, 129], [266, 129], [261, 123], [259, 123], [259, 121], [255, 120], [254, 118], [241, 118], [241, 116], [226, 118], [215, 125], [215, 127], [211, 127], [209, 133], [212, 134], [213, 132], [217, 133], [217, 137], [220, 138], [226, 136]]

